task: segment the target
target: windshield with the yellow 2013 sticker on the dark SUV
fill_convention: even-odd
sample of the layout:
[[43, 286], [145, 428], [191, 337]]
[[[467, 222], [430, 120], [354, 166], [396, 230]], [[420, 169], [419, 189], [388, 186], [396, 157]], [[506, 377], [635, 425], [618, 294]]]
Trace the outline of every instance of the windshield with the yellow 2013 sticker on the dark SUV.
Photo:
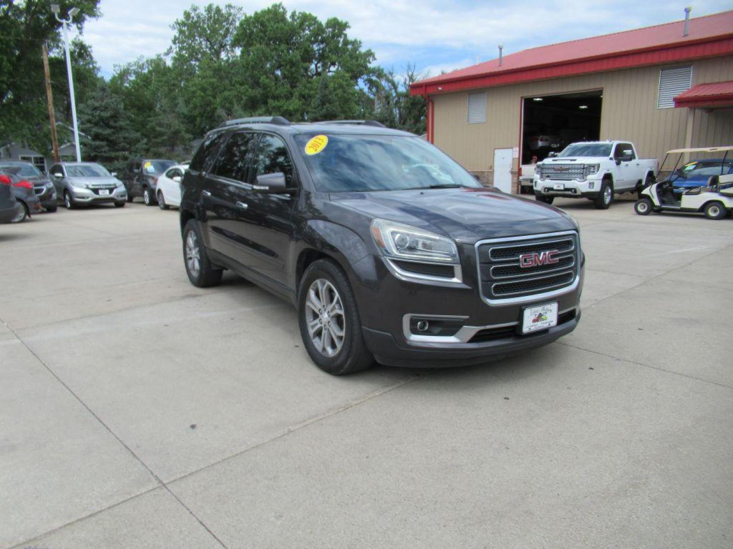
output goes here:
[[295, 143], [316, 187], [327, 193], [482, 187], [419, 137], [301, 134], [295, 135]]

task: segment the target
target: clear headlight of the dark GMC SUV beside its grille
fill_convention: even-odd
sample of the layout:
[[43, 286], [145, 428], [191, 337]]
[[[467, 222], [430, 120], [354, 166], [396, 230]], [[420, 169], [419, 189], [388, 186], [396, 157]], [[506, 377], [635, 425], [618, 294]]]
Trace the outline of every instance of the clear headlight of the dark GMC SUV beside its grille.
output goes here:
[[372, 236], [381, 252], [391, 258], [459, 263], [455, 242], [430, 231], [375, 219], [372, 221]]

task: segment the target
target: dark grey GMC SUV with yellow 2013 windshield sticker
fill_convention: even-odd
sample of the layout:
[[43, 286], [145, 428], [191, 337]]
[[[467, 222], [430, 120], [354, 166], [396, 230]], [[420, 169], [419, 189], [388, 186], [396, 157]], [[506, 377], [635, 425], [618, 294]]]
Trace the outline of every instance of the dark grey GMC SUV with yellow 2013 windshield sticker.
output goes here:
[[378, 122], [226, 123], [185, 173], [180, 227], [191, 283], [231, 269], [292, 302], [309, 356], [336, 375], [480, 364], [581, 316], [572, 217]]

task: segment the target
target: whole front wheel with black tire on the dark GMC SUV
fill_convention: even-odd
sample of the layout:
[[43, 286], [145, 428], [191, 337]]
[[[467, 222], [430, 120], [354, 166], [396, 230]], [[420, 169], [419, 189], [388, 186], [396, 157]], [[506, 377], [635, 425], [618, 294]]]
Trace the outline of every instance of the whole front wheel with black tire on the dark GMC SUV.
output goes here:
[[351, 285], [334, 261], [314, 261], [303, 273], [298, 288], [298, 324], [306, 351], [324, 372], [344, 376], [374, 363], [361, 335]]

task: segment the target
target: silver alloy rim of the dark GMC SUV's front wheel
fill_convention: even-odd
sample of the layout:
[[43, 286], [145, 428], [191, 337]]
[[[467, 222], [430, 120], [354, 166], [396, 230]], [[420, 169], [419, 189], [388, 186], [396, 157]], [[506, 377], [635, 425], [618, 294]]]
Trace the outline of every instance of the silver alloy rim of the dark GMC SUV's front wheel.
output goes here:
[[306, 326], [315, 348], [323, 356], [334, 356], [344, 346], [346, 315], [341, 296], [333, 284], [318, 278], [306, 297]]

